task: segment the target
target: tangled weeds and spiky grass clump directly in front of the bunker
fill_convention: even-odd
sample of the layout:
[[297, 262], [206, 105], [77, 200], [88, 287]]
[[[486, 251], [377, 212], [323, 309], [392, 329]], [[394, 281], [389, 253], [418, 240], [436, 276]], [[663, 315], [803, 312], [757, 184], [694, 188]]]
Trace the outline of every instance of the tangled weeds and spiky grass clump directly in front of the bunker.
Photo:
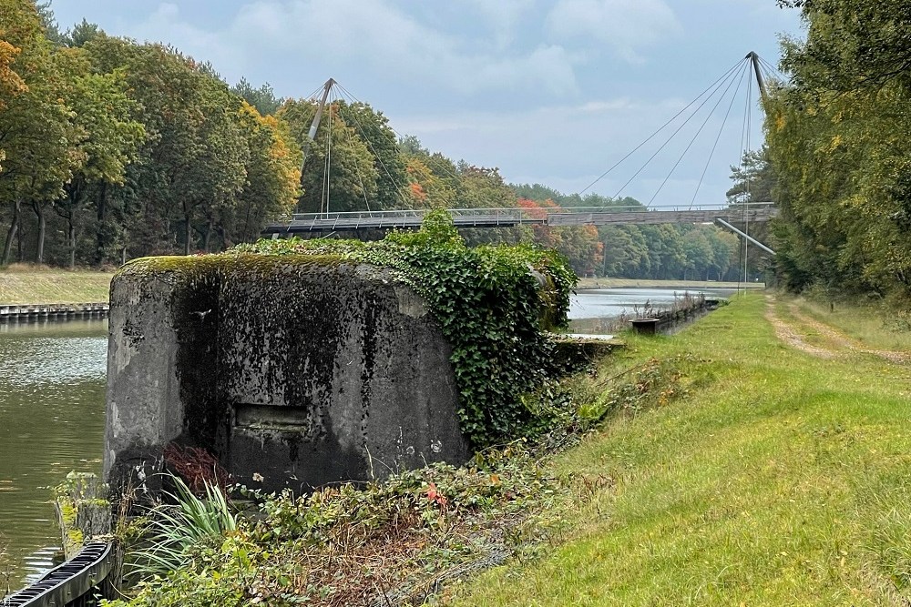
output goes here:
[[363, 489], [238, 488], [249, 503], [238, 518], [211, 485], [202, 499], [178, 488], [176, 506], [151, 513], [151, 545], [136, 553], [146, 580], [109, 605], [423, 602], [443, 580], [539, 541], [546, 525], [526, 523], [568, 495], [522, 441]]

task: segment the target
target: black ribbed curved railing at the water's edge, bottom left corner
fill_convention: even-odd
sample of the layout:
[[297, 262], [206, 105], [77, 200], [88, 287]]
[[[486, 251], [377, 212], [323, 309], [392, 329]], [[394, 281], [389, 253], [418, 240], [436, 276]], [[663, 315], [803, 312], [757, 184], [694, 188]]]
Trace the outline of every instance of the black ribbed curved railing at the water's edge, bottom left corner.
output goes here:
[[87, 607], [97, 604], [97, 586], [114, 567], [110, 544], [86, 544], [75, 557], [47, 572], [38, 582], [0, 599], [0, 607]]

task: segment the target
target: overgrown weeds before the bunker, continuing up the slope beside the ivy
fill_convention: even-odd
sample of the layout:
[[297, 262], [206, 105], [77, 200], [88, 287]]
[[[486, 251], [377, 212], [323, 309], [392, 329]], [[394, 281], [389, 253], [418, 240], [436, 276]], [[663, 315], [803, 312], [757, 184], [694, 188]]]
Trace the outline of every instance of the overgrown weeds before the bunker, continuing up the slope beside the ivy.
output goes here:
[[236, 489], [240, 511], [227, 532], [211, 532], [211, 520], [226, 512], [220, 490], [205, 485], [213, 502], [205, 510], [179, 491], [175, 504], [149, 512], [155, 532], [133, 552], [148, 563], [141, 546], [166, 546], [151, 560], [165, 566], [154, 575], [148, 566], [134, 570], [142, 581], [129, 598], [107, 605], [417, 605], [511, 558], [541, 558], [567, 541], [580, 504], [609, 484], [554, 474], [551, 454], [614, 414], [633, 418], [680, 398], [691, 364], [649, 359], [626, 372], [608, 366], [575, 376], [563, 392], [566, 426], [537, 442], [483, 450], [462, 467], [435, 464], [302, 496]]

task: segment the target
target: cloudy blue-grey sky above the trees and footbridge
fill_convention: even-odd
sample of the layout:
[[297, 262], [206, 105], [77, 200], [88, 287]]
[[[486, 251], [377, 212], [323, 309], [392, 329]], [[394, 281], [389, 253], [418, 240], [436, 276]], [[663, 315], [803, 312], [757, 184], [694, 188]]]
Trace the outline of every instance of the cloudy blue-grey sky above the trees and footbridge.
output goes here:
[[[229, 83], [268, 82], [279, 96], [310, 96], [332, 76], [425, 147], [564, 192], [588, 187], [748, 52], [776, 65], [779, 36], [803, 35], [799, 15], [774, 0], [54, 0], [52, 8], [63, 29], [85, 17], [108, 34], [209, 61]], [[689, 110], [588, 191], [654, 197], [656, 206], [722, 202], [748, 109], [752, 147], [762, 139], [756, 87], [747, 103], [739, 74], [638, 175]]]

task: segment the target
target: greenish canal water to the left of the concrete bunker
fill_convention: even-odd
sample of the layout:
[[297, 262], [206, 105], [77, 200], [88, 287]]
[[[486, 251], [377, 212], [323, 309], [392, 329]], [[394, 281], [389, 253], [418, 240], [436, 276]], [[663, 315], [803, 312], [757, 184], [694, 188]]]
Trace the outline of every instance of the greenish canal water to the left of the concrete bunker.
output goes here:
[[0, 325], [0, 582], [14, 567], [14, 590], [61, 551], [51, 487], [101, 471], [106, 361], [107, 320]]

